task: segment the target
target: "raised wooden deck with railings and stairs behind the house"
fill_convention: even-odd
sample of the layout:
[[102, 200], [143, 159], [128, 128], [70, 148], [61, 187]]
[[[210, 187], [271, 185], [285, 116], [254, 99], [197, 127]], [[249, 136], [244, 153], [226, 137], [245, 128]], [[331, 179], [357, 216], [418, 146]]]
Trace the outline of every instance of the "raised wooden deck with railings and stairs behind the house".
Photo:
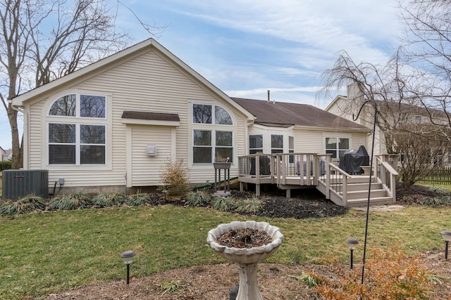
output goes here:
[[[247, 183], [255, 185], [260, 195], [261, 185], [275, 184], [286, 190], [290, 197], [292, 189], [316, 188], [335, 204], [343, 207], [371, 204], [393, 204], [396, 200], [396, 159], [390, 155], [377, 155], [373, 170], [368, 174], [350, 175], [330, 160], [330, 155], [313, 153], [279, 153], [273, 155], [246, 155], [239, 157], [240, 190]], [[258, 171], [256, 171], [258, 170]], [[370, 175], [372, 174], [371, 178]], [[371, 188], [370, 188], [371, 182]]]

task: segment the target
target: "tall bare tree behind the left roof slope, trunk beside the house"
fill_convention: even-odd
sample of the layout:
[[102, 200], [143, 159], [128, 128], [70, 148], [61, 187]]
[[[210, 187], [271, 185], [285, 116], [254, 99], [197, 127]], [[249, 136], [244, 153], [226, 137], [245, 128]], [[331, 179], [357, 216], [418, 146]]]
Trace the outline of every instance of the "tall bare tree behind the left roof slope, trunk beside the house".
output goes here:
[[[0, 99], [11, 126], [13, 169], [22, 167], [23, 155], [18, 112], [8, 99], [128, 46], [128, 34], [115, 27], [119, 4], [0, 0]], [[140, 22], [148, 32], [152, 30]]]

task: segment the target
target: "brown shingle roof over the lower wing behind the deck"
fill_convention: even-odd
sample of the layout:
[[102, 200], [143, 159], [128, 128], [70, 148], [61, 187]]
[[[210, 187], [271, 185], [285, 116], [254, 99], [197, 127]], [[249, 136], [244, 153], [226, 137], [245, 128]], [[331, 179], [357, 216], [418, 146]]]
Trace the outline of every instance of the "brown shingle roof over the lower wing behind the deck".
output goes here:
[[365, 126], [352, 122], [330, 112], [299, 103], [269, 102], [232, 98], [236, 103], [252, 113], [257, 119], [254, 124], [273, 127], [309, 126], [333, 129], [369, 130]]

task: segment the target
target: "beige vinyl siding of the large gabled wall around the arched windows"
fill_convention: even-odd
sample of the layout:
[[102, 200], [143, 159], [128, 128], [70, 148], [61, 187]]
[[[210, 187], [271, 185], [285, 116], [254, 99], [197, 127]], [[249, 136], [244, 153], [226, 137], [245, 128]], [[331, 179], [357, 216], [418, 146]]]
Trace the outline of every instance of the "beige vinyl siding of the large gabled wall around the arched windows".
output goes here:
[[[133, 150], [136, 152], [128, 153], [126, 140], [127, 126], [130, 125], [121, 122], [124, 110], [177, 114], [180, 118], [180, 126], [175, 129], [175, 144], [177, 145], [175, 152], [177, 159], [188, 159], [192, 147], [191, 133], [188, 130], [189, 124], [191, 124], [189, 103], [200, 101], [221, 105], [233, 114], [236, 122], [234, 125], [235, 149], [240, 148], [238, 155], [245, 154], [245, 148], [241, 147], [246, 143], [244, 116], [222, 98], [204, 88], [204, 85], [197, 79], [187, 76], [184, 70], [170, 60], [166, 60], [166, 57], [156, 51], [143, 52], [140, 56], [135, 56], [131, 60], [83, 80], [74, 82], [71, 86], [64, 86], [64, 90], [59, 89], [58, 93], [70, 90], [108, 97], [107, 165], [101, 167], [69, 166], [67, 168], [48, 166], [47, 138], [42, 138], [42, 132], [47, 132], [47, 121], [44, 121], [47, 111], [43, 110], [46, 99], [40, 100], [40, 102], [33, 103], [30, 110], [30, 168], [49, 169], [50, 186], [53, 186], [53, 181], [58, 178], [65, 178], [64, 185], [66, 187], [126, 185], [127, 156], [137, 155], [137, 152], [140, 151], [138, 148], [149, 142], [144, 139], [144, 136], [141, 140], [136, 138], [133, 141], [133, 143], [137, 143], [137, 148]], [[47, 98], [49, 103], [56, 100], [56, 95], [56, 93], [49, 95]], [[42, 126], [40, 125], [41, 118], [44, 118]], [[160, 145], [161, 143], [156, 144]], [[166, 142], [163, 145], [163, 149], [166, 149]], [[144, 152], [144, 150], [142, 151]], [[140, 162], [146, 158], [138, 155], [138, 162], [133, 162], [133, 168], [137, 168], [134, 169], [137, 177], [133, 185], [157, 182], [158, 169], [152, 167], [152, 174], [146, 174], [144, 169], [140, 169]], [[236, 168], [233, 171], [235, 173], [237, 173]], [[144, 174], [148, 177], [144, 178]], [[213, 181], [213, 167], [192, 168], [190, 177], [192, 183]]]

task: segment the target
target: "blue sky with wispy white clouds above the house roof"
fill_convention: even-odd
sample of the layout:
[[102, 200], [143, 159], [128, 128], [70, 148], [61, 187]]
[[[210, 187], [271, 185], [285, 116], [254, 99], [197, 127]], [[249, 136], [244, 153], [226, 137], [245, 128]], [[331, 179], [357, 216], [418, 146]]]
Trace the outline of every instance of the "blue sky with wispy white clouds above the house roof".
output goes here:
[[[399, 44], [396, 0], [121, 0], [156, 38], [232, 97], [326, 107], [321, 73], [347, 51], [357, 63], [385, 63]], [[118, 26], [135, 42], [151, 37], [125, 6]], [[342, 92], [340, 92], [342, 93]], [[11, 147], [4, 108], [0, 146]]]

